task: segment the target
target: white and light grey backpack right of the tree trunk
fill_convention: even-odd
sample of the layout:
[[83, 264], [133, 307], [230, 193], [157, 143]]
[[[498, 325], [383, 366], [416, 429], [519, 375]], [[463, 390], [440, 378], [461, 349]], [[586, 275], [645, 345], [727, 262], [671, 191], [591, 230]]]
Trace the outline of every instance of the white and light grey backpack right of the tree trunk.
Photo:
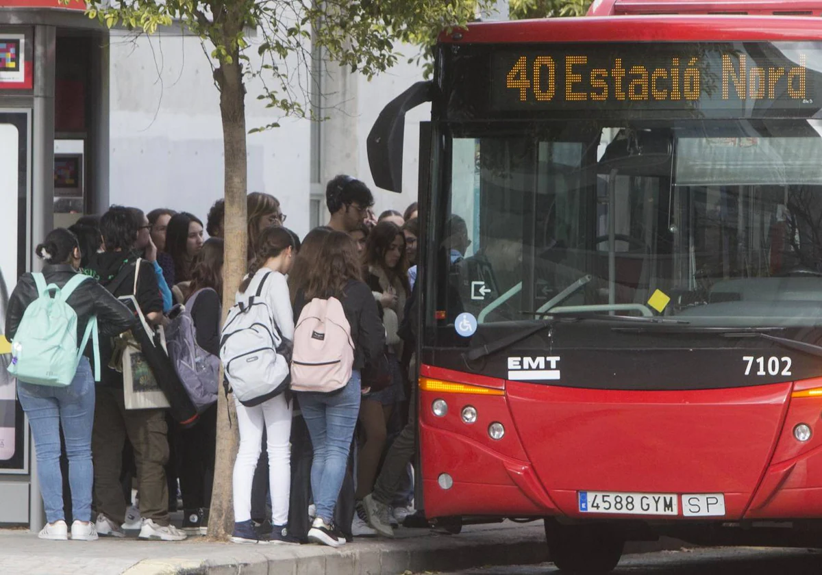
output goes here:
[[261, 297], [270, 274], [258, 273], [252, 278], [246, 292], [254, 295], [242, 298], [229, 310], [219, 343], [226, 384], [248, 407], [274, 398], [289, 386], [289, 361], [280, 352], [284, 339], [266, 298]]

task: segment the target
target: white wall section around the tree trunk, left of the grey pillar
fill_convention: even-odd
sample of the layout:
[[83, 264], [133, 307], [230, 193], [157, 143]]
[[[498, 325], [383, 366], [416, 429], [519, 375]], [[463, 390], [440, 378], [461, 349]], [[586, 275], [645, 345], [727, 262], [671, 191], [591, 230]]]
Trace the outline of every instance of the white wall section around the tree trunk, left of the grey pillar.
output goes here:
[[[112, 34], [109, 55], [111, 203], [186, 210], [205, 223], [224, 193], [224, 154], [219, 92], [200, 40]], [[252, 82], [248, 129], [277, 120], [257, 94]], [[248, 191], [279, 198], [289, 227], [307, 232], [310, 122], [281, 124], [247, 138]]]

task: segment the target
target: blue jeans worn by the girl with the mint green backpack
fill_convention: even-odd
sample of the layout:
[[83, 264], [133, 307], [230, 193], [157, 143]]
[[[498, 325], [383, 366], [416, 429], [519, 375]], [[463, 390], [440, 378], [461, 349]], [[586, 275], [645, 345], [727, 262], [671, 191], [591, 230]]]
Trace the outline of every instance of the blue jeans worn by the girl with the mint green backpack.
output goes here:
[[17, 382], [17, 396], [29, 417], [37, 449], [37, 477], [49, 523], [65, 519], [60, 471], [60, 426], [66, 439], [72, 514], [91, 520], [91, 426], [95, 421], [95, 380], [89, 360], [81, 358], [72, 384], [64, 388]]

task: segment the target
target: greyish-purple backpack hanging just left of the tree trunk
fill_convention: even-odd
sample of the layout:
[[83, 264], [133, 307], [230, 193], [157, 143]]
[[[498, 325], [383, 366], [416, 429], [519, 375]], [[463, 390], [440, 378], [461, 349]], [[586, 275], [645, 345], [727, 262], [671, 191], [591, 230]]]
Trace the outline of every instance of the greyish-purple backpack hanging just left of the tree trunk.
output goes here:
[[174, 370], [200, 413], [217, 401], [219, 378], [219, 357], [197, 345], [194, 320], [189, 311], [205, 289], [211, 288], [194, 292], [187, 306], [174, 306], [169, 312], [171, 323], [165, 329], [166, 345]]

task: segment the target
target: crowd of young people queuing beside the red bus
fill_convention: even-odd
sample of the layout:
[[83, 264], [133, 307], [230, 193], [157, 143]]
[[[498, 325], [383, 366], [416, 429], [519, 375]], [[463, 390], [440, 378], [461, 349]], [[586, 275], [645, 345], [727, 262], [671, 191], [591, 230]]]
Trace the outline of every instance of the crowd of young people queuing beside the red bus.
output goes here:
[[[303, 308], [317, 297], [335, 297], [350, 324], [353, 365], [348, 382], [332, 393], [286, 389], [254, 404], [234, 398], [240, 443], [232, 540], [238, 543], [337, 547], [354, 536], [392, 536], [413, 513], [413, 426], [406, 422], [413, 418], [417, 205], [376, 217], [372, 192], [349, 176], [328, 182], [326, 205], [328, 225], [301, 241], [284, 227], [274, 196], [247, 196], [249, 261], [236, 301], [250, 294], [266, 301], [273, 328], [290, 342]], [[167, 325], [184, 306], [196, 345], [219, 357], [223, 235], [223, 200], [205, 226], [187, 212], [112, 206], [54, 229], [37, 246], [49, 286], [68, 293], [77, 274], [96, 280], [72, 283], [66, 301], [76, 312], [77, 341], [92, 320], [100, 335], [99, 358], [91, 344], [81, 349], [71, 384], [18, 381], [47, 519], [41, 538], [96, 540], [135, 528], [152, 540], [205, 534], [216, 376], [213, 401], [198, 410], [194, 426], [179, 425], [163, 409], [127, 408], [114, 339], [138, 328], [134, 310], [122, 303], [133, 296], [154, 326]], [[43, 278], [35, 275], [22, 276], [12, 293], [6, 326], [12, 343], [25, 312], [43, 295]], [[386, 384], [372, 390], [364, 370], [382, 370]], [[171, 521], [178, 499], [182, 529]]]

